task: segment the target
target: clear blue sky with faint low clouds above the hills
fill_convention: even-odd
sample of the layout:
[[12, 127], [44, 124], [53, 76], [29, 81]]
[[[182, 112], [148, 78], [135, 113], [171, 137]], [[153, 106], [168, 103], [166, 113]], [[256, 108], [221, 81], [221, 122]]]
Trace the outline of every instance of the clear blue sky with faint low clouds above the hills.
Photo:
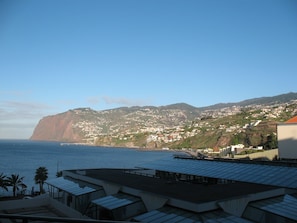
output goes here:
[[0, 0], [0, 138], [69, 109], [297, 92], [296, 0]]

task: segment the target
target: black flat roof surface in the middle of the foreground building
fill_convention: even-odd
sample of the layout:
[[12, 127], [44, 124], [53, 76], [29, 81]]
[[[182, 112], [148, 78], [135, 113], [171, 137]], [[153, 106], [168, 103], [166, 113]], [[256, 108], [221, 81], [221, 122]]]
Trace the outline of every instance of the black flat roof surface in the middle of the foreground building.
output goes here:
[[[69, 170], [76, 173], [76, 170]], [[131, 171], [133, 172], [133, 171]], [[228, 184], [190, 184], [180, 181], [168, 181], [129, 173], [123, 169], [86, 169], [84, 175], [154, 194], [195, 203], [222, 200], [276, 189], [269, 185], [234, 182]]]

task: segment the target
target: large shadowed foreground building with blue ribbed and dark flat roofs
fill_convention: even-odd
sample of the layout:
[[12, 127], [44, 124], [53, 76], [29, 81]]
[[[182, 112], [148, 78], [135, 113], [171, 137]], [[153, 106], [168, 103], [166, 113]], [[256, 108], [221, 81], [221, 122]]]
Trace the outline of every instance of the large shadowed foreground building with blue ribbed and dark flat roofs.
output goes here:
[[46, 184], [48, 199], [81, 222], [297, 221], [296, 163], [173, 156], [133, 169], [64, 170]]

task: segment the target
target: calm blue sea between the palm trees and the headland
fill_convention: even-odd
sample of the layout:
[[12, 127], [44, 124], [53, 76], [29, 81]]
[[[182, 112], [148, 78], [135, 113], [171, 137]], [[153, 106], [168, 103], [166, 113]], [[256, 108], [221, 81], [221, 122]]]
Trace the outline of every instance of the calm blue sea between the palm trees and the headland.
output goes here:
[[[0, 140], [0, 173], [24, 177], [28, 190], [34, 183], [35, 171], [44, 166], [48, 179], [57, 171], [85, 168], [133, 168], [137, 165], [172, 156], [169, 151], [141, 151], [127, 148], [107, 148], [58, 142], [30, 140]], [[0, 195], [5, 193], [0, 189]]]

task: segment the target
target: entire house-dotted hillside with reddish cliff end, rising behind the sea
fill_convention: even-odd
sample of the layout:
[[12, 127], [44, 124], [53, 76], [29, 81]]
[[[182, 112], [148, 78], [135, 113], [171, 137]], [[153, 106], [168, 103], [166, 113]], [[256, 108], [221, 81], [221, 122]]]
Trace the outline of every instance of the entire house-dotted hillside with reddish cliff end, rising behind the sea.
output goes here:
[[276, 125], [297, 114], [297, 93], [196, 108], [185, 103], [78, 108], [42, 118], [31, 140], [137, 148], [276, 147]]

